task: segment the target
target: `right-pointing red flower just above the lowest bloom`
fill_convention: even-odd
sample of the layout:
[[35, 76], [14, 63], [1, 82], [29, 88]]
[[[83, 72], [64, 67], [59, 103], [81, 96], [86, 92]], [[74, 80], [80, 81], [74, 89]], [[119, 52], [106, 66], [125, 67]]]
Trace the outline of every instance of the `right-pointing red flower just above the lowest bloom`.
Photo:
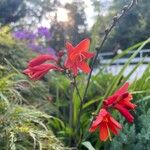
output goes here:
[[104, 100], [103, 104], [105, 108], [113, 107], [117, 109], [131, 123], [134, 117], [130, 114], [129, 110], [134, 109], [136, 105], [131, 103], [132, 95], [128, 92], [128, 87], [129, 83], [125, 83], [112, 96]]

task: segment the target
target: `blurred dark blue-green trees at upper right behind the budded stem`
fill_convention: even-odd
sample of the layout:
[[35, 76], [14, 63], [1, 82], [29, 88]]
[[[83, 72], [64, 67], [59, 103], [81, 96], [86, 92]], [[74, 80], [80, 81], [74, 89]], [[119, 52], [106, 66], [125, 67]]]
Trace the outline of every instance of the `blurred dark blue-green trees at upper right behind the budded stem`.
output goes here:
[[[121, 8], [130, 1], [114, 0], [108, 10], [108, 14], [103, 17], [104, 20], [112, 20], [112, 17], [121, 11]], [[139, 0], [133, 8], [115, 27], [109, 40], [105, 44], [105, 51], [112, 51], [117, 45], [121, 49], [126, 49], [131, 45], [146, 40], [150, 35], [150, 1]]]

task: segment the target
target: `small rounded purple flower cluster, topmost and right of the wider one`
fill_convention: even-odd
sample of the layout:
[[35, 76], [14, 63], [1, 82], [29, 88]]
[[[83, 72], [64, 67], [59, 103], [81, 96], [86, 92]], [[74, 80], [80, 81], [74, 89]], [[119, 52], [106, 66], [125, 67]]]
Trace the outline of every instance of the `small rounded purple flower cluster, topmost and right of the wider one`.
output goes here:
[[49, 29], [46, 27], [39, 27], [37, 32], [39, 36], [45, 36], [45, 38], [48, 38], [48, 39], [51, 38], [51, 33]]

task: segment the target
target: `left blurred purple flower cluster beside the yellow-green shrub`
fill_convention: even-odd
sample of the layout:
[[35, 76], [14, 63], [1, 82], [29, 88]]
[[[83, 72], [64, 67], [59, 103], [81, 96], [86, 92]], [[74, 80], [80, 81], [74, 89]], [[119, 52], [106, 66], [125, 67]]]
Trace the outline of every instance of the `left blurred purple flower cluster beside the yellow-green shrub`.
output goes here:
[[36, 35], [31, 31], [20, 30], [13, 33], [13, 36], [18, 40], [34, 40]]

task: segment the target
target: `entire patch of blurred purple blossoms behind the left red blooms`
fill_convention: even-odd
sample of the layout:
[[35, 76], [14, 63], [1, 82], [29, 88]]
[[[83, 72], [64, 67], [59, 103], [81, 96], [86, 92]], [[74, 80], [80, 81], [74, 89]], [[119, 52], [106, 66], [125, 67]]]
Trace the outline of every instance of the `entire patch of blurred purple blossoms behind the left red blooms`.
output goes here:
[[13, 32], [13, 37], [27, 44], [27, 47], [34, 52], [41, 54], [56, 55], [56, 51], [48, 46], [52, 34], [46, 27], [39, 27], [36, 31], [27, 31], [25, 29]]

